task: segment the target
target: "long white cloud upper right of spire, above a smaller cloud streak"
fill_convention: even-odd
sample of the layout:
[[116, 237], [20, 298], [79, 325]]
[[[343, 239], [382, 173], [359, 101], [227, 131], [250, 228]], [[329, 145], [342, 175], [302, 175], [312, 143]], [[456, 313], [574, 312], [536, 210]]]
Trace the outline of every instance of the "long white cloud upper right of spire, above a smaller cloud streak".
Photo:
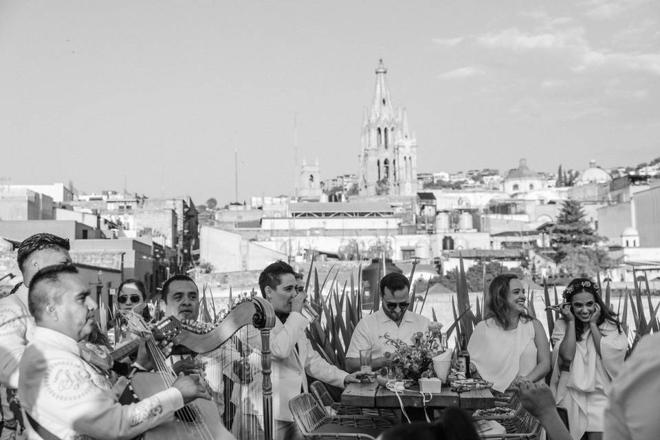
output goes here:
[[584, 28], [571, 28], [557, 32], [526, 33], [509, 28], [498, 33], [479, 36], [478, 43], [487, 47], [511, 50], [557, 49], [584, 47]]

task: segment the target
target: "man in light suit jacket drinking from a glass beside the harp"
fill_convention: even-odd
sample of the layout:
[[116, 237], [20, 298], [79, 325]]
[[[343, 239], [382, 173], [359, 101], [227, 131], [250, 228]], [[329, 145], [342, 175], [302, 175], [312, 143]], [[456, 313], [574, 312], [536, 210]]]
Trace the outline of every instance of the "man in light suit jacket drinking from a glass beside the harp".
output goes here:
[[[342, 371], [314, 351], [305, 336], [309, 322], [300, 313], [306, 295], [305, 292], [298, 292], [297, 285], [296, 272], [283, 261], [268, 265], [259, 276], [261, 294], [273, 305], [278, 317], [270, 338], [276, 440], [303, 438], [289, 410], [289, 400], [300, 393], [307, 393], [306, 374], [340, 388], [350, 382], [360, 382], [358, 377], [364, 375], [360, 372], [349, 374]], [[250, 338], [250, 346], [254, 353], [260, 352], [261, 340]], [[256, 390], [261, 388], [261, 384], [261, 373], [256, 373], [250, 387]], [[250, 411], [254, 410], [259, 414], [261, 409], [261, 399], [253, 399], [250, 403], [249, 406], [246, 406], [245, 402], [239, 404], [239, 407], [243, 407], [243, 412], [247, 412], [241, 415], [244, 423], [249, 423]], [[236, 437], [243, 437], [234, 430], [232, 432]]]

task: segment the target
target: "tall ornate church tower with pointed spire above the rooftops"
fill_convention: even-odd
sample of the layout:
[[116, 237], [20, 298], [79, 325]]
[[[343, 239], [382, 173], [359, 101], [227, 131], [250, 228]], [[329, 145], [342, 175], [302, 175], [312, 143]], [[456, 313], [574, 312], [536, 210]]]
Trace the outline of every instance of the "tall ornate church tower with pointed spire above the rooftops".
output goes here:
[[371, 109], [364, 109], [358, 188], [360, 195], [415, 195], [417, 139], [408, 127], [406, 109], [394, 110], [386, 73], [380, 60]]

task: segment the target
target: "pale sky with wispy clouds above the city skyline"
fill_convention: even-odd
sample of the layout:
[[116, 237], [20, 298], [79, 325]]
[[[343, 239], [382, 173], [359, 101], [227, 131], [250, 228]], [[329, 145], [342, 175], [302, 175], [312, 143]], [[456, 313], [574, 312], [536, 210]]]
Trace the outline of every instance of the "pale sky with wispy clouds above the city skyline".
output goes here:
[[382, 58], [417, 171], [660, 155], [660, 2], [1, 0], [0, 177], [195, 203], [357, 173]]

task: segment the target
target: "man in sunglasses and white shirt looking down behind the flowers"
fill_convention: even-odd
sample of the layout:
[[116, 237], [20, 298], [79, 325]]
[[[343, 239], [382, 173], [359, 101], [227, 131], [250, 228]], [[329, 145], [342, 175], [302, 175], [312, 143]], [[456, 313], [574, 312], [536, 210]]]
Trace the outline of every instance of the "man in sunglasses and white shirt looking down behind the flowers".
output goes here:
[[402, 274], [392, 272], [380, 281], [380, 309], [364, 316], [353, 331], [353, 337], [346, 352], [347, 371], [360, 369], [360, 350], [371, 349], [371, 368], [375, 371], [388, 364], [385, 353], [388, 351], [386, 334], [395, 340], [410, 344], [410, 339], [418, 331], [429, 327], [439, 329], [438, 324], [431, 324], [426, 316], [408, 311], [410, 305], [410, 282]]

